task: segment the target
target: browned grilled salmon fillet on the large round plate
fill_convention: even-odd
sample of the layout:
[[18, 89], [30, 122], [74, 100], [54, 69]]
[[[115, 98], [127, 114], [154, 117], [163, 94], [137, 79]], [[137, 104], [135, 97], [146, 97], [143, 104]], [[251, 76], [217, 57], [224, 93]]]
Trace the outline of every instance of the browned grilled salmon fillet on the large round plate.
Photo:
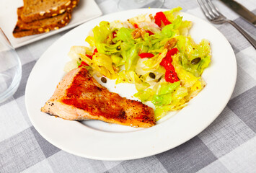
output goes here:
[[156, 124], [151, 107], [109, 92], [86, 68], [69, 71], [41, 111], [66, 120], [102, 120], [140, 128]]

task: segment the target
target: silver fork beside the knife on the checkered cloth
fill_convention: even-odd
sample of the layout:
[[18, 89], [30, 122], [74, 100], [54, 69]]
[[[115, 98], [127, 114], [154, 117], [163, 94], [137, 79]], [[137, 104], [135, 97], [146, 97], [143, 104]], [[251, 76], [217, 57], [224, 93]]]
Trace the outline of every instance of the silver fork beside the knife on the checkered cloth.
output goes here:
[[256, 40], [253, 39], [250, 35], [247, 34], [239, 25], [237, 25], [232, 20], [226, 19], [224, 15], [219, 12], [211, 0], [197, 0], [200, 8], [203, 13], [206, 15], [206, 18], [212, 22], [213, 24], [223, 24], [224, 22], [228, 22], [233, 25], [237, 30], [244, 35], [244, 37], [252, 44], [252, 46], [256, 49]]

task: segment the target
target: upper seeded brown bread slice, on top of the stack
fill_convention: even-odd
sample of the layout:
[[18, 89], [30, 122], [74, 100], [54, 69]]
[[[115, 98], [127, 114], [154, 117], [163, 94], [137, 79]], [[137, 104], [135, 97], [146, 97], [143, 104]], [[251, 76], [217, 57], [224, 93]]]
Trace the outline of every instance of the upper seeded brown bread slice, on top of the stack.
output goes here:
[[24, 7], [20, 17], [23, 22], [32, 22], [71, 12], [79, 0], [23, 0], [23, 2]]

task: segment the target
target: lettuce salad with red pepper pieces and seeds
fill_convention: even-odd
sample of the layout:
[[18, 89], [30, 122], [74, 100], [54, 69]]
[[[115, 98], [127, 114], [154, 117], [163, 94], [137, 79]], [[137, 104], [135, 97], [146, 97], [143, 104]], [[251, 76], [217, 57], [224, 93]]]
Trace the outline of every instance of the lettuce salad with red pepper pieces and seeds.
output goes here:
[[71, 48], [65, 71], [83, 66], [116, 84], [135, 84], [134, 96], [154, 104], [156, 120], [182, 109], [206, 86], [201, 75], [211, 62], [211, 48], [208, 40], [193, 42], [192, 22], [182, 20], [180, 10], [100, 22], [85, 39], [89, 47]]

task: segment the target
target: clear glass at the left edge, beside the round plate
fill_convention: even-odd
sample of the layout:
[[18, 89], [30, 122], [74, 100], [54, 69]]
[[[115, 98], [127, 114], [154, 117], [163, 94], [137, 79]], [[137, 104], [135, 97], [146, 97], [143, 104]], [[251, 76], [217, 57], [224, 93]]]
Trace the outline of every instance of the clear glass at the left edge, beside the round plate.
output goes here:
[[17, 91], [21, 78], [19, 56], [0, 28], [0, 103]]

